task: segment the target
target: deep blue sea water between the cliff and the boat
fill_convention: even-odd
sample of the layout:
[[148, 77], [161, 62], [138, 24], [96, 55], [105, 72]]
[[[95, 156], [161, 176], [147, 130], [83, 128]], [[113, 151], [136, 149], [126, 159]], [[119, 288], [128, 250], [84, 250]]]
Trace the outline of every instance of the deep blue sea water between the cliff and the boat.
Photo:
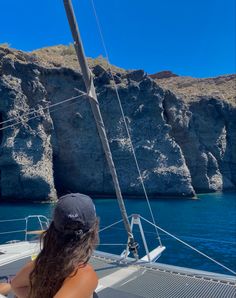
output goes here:
[[[100, 227], [103, 228], [121, 219], [115, 199], [95, 199]], [[138, 213], [151, 220], [144, 199], [125, 200], [127, 213]], [[0, 221], [23, 218], [29, 214], [51, 217], [53, 204], [1, 204]], [[151, 200], [156, 223], [169, 233], [179, 237], [198, 250], [236, 271], [236, 193], [201, 194], [198, 200], [165, 199]], [[21, 225], [21, 226], [20, 226]], [[142, 222], [150, 249], [158, 245], [155, 229]], [[24, 228], [23, 222], [0, 223], [0, 243], [11, 239], [23, 239], [23, 233], [1, 235], [7, 230]], [[166, 250], [159, 258], [160, 263], [172, 264], [199, 270], [230, 274], [217, 264], [199, 255], [170, 236], [160, 232]], [[135, 227], [135, 237], [140, 243], [140, 255], [144, 255], [140, 234]], [[125, 248], [127, 235], [120, 223], [100, 234], [100, 250], [120, 254]], [[112, 244], [112, 245], [111, 245]], [[114, 245], [113, 245], [114, 244]]]

